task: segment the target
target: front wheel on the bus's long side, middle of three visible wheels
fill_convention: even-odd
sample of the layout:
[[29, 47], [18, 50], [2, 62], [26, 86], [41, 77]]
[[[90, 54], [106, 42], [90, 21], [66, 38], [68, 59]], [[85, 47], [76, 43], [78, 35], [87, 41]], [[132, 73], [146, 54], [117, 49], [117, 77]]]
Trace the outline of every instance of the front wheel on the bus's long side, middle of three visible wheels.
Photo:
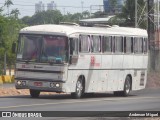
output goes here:
[[74, 93], [71, 93], [71, 96], [72, 98], [75, 98], [75, 99], [79, 99], [82, 97], [83, 95], [83, 83], [82, 83], [82, 80], [79, 79], [76, 83], [76, 91]]

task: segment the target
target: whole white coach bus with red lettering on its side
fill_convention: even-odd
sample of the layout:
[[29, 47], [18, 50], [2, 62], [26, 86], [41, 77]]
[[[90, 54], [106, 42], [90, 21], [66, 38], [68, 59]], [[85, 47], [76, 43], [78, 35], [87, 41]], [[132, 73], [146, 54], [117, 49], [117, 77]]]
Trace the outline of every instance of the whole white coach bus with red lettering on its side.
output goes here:
[[128, 96], [147, 80], [147, 31], [127, 27], [37, 25], [19, 34], [15, 86], [41, 91], [85, 93], [113, 91]]

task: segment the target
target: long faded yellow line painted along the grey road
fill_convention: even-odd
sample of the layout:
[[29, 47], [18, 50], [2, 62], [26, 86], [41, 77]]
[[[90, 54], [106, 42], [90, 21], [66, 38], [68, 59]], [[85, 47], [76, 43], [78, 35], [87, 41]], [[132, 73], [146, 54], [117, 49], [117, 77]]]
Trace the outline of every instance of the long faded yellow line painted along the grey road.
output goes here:
[[68, 101], [68, 102], [58, 102], [58, 103], [43, 103], [43, 104], [29, 104], [29, 105], [17, 105], [17, 106], [6, 106], [0, 107], [0, 109], [8, 108], [20, 108], [20, 107], [33, 107], [33, 106], [45, 106], [45, 105], [59, 105], [59, 104], [73, 104], [73, 103], [87, 103], [87, 102], [99, 102], [99, 101], [119, 101], [119, 100], [136, 100], [136, 99], [160, 99], [160, 97], [137, 97], [137, 98], [117, 98], [117, 99], [101, 99], [101, 100], [84, 100], [84, 101]]

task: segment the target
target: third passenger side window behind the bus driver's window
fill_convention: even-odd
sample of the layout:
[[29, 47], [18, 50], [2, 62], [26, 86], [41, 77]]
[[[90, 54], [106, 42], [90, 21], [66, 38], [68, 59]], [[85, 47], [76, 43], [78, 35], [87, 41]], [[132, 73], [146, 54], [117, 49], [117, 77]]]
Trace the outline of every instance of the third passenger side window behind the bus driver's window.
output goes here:
[[103, 52], [111, 52], [112, 51], [112, 37], [111, 36], [104, 36], [102, 42]]

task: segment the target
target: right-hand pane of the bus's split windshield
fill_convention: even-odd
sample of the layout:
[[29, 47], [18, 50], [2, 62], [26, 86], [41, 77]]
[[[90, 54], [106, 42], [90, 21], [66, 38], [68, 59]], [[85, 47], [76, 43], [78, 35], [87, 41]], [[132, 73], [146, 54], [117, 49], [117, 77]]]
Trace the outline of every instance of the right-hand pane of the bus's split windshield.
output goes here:
[[44, 36], [41, 62], [65, 62], [67, 56], [67, 37]]

